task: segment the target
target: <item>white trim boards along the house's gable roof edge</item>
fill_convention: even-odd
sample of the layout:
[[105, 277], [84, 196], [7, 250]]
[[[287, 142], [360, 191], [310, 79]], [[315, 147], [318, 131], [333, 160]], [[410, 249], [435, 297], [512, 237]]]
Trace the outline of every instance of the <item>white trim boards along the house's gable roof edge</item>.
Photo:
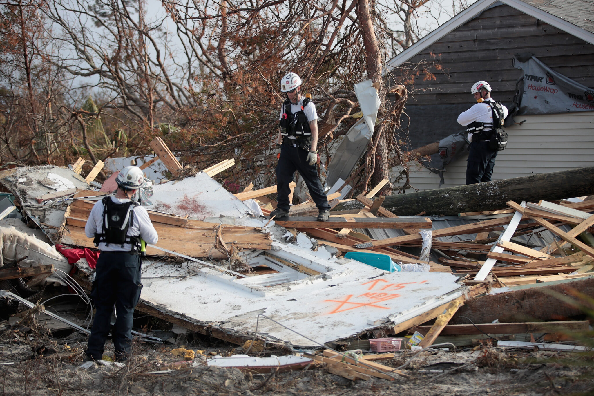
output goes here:
[[581, 27], [577, 27], [573, 23], [565, 21], [562, 18], [555, 17], [555, 15], [549, 14], [533, 5], [526, 4], [522, 0], [479, 0], [431, 33], [427, 34], [412, 46], [400, 52], [394, 58], [390, 59], [390, 61], [386, 62], [386, 68], [392, 69], [402, 65], [413, 56], [418, 55], [422, 50], [426, 49], [426, 47], [443, 38], [446, 34], [462, 26], [467, 21], [472, 20], [477, 15], [481, 14], [481, 12], [484, 12], [496, 2], [509, 5], [510, 7], [516, 8], [518, 11], [522, 11], [531, 17], [535, 17], [538, 20], [548, 23], [549, 25], [563, 30], [587, 43], [594, 44], [594, 33], [590, 33]]

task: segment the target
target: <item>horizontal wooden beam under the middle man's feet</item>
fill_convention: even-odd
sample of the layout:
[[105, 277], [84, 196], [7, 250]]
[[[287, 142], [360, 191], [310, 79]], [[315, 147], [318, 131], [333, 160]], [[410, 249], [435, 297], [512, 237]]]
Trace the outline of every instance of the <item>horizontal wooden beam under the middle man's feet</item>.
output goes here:
[[[352, 221], [354, 220], [354, 221]], [[275, 220], [279, 226], [290, 228], [431, 228], [431, 219], [423, 218], [361, 218], [353, 217], [347, 220], [343, 217], [330, 217], [328, 221], [317, 221], [313, 217], [289, 217], [289, 220]]]

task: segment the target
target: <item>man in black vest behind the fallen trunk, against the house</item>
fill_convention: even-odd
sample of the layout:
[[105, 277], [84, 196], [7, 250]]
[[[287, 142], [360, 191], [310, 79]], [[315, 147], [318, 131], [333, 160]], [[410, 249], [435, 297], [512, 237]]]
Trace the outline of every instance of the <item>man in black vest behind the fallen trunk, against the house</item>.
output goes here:
[[507, 134], [503, 134], [505, 141], [501, 139], [507, 107], [491, 99], [491, 85], [486, 81], [472, 85], [470, 93], [478, 103], [458, 116], [458, 123], [469, 127], [466, 184], [490, 182], [497, 151], [507, 144]]

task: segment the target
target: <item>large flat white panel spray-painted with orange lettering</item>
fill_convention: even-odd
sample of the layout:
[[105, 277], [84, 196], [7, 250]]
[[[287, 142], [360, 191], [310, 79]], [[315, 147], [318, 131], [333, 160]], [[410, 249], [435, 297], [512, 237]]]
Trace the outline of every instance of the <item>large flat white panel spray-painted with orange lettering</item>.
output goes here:
[[[358, 261], [320, 259], [295, 245], [274, 246], [280, 248], [275, 242], [271, 258], [318, 275], [261, 287], [249, 277], [157, 264], [144, 269], [142, 299], [195, 325], [311, 348], [398, 324], [465, 290], [451, 274], [390, 274]], [[282, 325], [258, 319], [260, 313]]]

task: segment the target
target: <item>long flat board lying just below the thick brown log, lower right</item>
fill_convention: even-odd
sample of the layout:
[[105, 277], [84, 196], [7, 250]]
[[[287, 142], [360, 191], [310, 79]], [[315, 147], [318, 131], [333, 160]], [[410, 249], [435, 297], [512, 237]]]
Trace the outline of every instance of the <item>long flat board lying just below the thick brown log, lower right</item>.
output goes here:
[[[424, 333], [431, 326], [417, 326], [415, 330]], [[514, 322], [514, 323], [488, 323], [468, 325], [447, 325], [441, 330], [441, 335], [465, 334], [520, 334], [530, 332], [578, 332], [588, 331], [588, 321], [561, 321], [561, 322]]]

